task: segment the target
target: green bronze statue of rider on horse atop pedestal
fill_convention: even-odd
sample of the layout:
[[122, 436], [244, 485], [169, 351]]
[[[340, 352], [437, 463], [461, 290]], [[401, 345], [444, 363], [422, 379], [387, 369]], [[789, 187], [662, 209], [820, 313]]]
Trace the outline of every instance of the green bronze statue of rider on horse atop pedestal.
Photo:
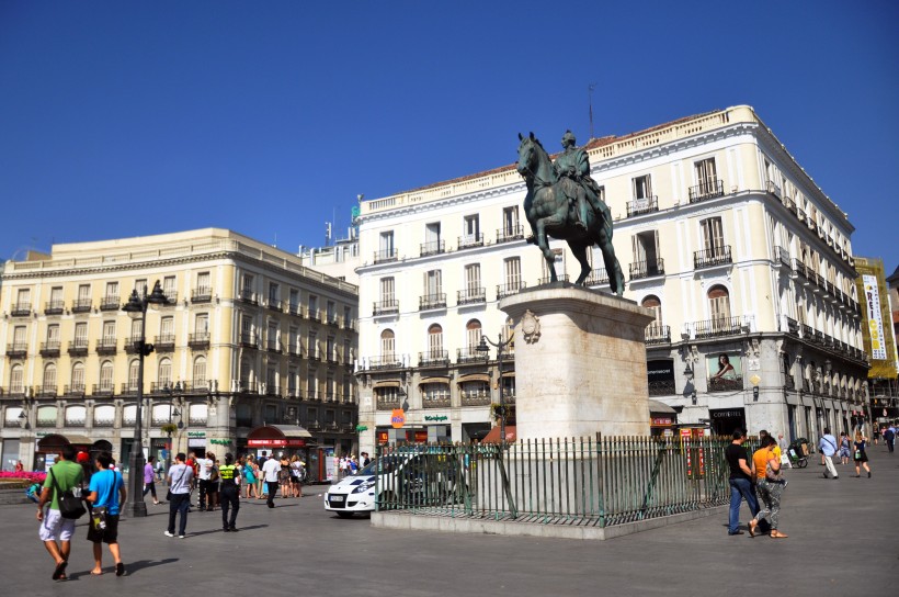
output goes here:
[[527, 137], [519, 134], [519, 139], [516, 168], [527, 185], [524, 213], [533, 233], [528, 241], [543, 251], [550, 281], [556, 282], [557, 277], [547, 235], [568, 241], [581, 264], [576, 284], [584, 284], [590, 275], [587, 250], [598, 245], [612, 292], [621, 296], [624, 293], [624, 274], [612, 246], [612, 214], [600, 196], [600, 188], [590, 178], [587, 151], [577, 148], [570, 131], [562, 137], [564, 151], [555, 164], [534, 133]]

